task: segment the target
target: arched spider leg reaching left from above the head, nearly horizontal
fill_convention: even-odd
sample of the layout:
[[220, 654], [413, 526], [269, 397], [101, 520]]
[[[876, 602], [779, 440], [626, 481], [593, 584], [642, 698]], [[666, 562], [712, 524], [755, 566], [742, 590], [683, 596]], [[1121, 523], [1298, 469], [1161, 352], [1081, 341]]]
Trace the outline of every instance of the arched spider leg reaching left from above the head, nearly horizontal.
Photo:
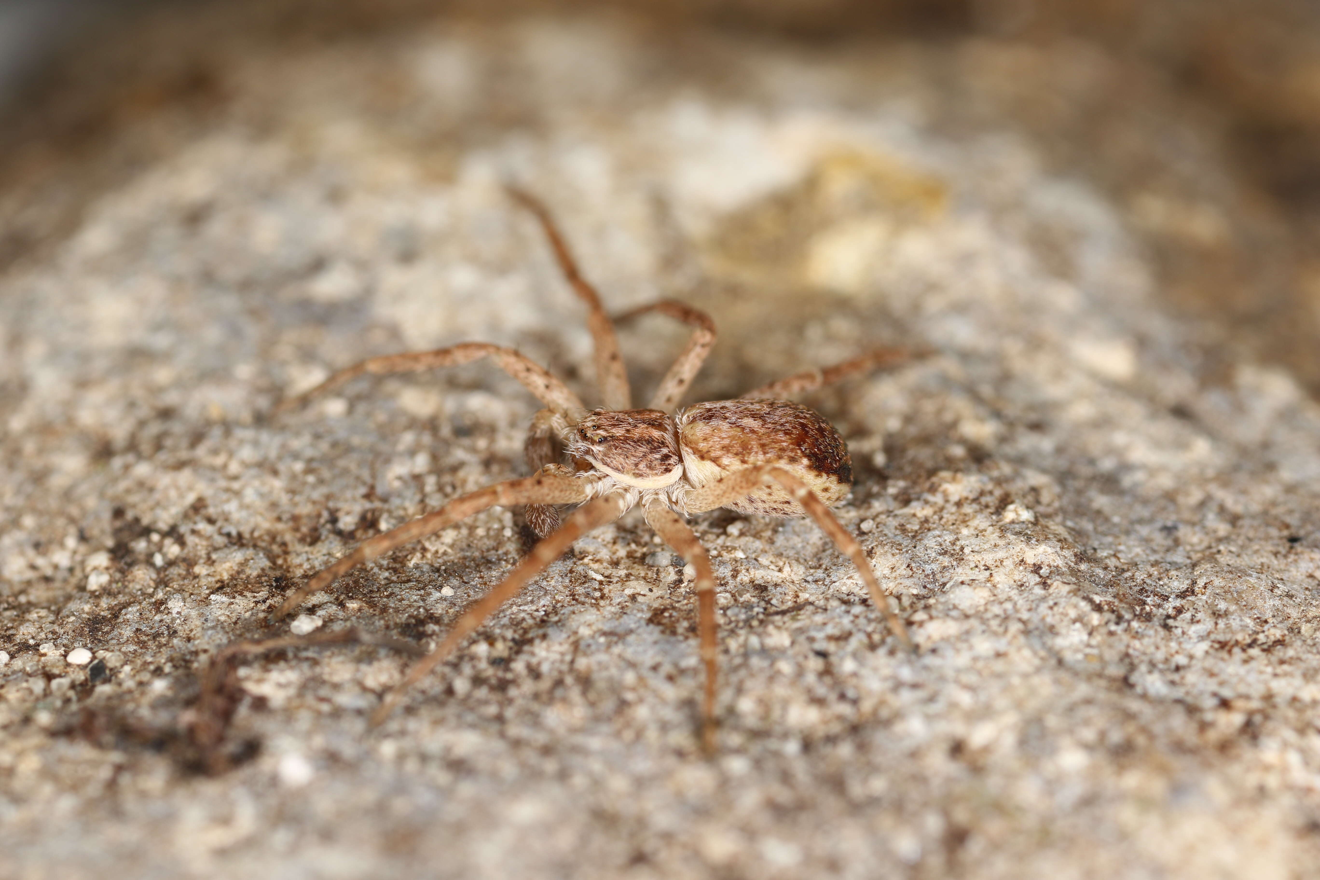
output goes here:
[[401, 355], [385, 355], [383, 358], [370, 358], [362, 363], [346, 367], [330, 376], [312, 391], [296, 397], [289, 397], [275, 408], [276, 413], [284, 413], [305, 404], [309, 398], [322, 394], [333, 388], [371, 373], [372, 376], [389, 376], [392, 373], [416, 373], [422, 369], [436, 367], [457, 367], [470, 364], [480, 358], [491, 358], [500, 369], [523, 383], [523, 387], [536, 394], [536, 398], [557, 413], [574, 413], [582, 410], [582, 401], [569, 391], [568, 385], [529, 358], [520, 355], [512, 348], [494, 346], [488, 342], [463, 342], [447, 348], [434, 351], [409, 351]]

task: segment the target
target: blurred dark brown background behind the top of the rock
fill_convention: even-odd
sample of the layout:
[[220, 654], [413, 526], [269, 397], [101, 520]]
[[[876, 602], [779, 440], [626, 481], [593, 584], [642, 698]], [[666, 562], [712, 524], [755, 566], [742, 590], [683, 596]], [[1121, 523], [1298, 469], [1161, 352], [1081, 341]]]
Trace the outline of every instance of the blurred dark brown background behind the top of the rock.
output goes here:
[[[103, 182], [165, 149], [144, 117], [186, 125], [223, 112], [230, 53], [513, 13], [628, 16], [657, 38], [701, 32], [826, 55], [916, 45], [933, 47], [936, 66], [941, 49], [966, 58], [997, 46], [994, 63], [1020, 70], [998, 70], [985, 94], [973, 84], [968, 103], [1026, 127], [1056, 170], [1127, 207], [1166, 306], [1199, 322], [1209, 356], [1283, 364], [1320, 393], [1320, 4], [1309, 0], [7, 0], [0, 270], [58, 241]], [[1057, 65], [1043, 61], [1060, 57], [1101, 71], [1100, 84], [1060, 90]], [[1179, 145], [1143, 135], [1176, 139], [1180, 127], [1188, 149], [1220, 154], [1228, 179], [1177, 179]], [[1162, 181], [1183, 195], [1151, 198]]]

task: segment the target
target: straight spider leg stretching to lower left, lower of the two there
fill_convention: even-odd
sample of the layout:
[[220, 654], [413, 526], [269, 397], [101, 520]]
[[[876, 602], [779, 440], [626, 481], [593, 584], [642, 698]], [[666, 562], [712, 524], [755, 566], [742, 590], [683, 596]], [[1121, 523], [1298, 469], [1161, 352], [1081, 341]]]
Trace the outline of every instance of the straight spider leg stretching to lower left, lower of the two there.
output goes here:
[[457, 648], [463, 639], [482, 625], [482, 621], [495, 613], [502, 604], [512, 599], [528, 581], [544, 571], [548, 565], [558, 559], [576, 540], [597, 526], [619, 519], [623, 516], [624, 511], [627, 511], [627, 499], [624, 495], [612, 493], [589, 501], [574, 511], [558, 532], [532, 548], [532, 551], [517, 563], [517, 567], [508, 573], [507, 578], [496, 584], [494, 590], [467, 607], [463, 615], [454, 623], [454, 627], [445, 635], [445, 639], [436, 645], [436, 649], [417, 661], [417, 664], [408, 670], [403, 682], [389, 691], [384, 702], [376, 707], [376, 711], [371, 715], [371, 726], [375, 727], [384, 722], [385, 718], [389, 716], [389, 712], [393, 711], [393, 707], [399, 705], [399, 701], [403, 699], [404, 691], [421, 681], [426, 673], [453, 653], [454, 648]]

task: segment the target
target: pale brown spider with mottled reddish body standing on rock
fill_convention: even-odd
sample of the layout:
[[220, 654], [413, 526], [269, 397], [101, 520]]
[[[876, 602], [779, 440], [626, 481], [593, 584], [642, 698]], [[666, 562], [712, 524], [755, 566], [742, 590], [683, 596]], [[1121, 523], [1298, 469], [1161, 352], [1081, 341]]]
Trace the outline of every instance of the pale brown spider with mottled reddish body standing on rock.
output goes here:
[[[529, 193], [508, 187], [510, 195], [540, 223], [564, 277], [587, 307], [587, 326], [595, 346], [595, 373], [603, 406], [587, 409], [549, 371], [512, 348], [466, 342], [434, 351], [371, 358], [331, 375], [315, 388], [286, 400], [276, 412], [300, 406], [308, 398], [363, 375], [408, 373], [434, 367], [466, 364], [490, 358], [521, 383], [544, 409], [532, 417], [524, 454], [532, 476], [504, 480], [469, 492], [438, 511], [417, 517], [358, 545], [334, 565], [318, 571], [293, 591], [273, 619], [280, 620], [313, 592], [325, 590], [345, 573], [403, 545], [434, 534], [491, 507], [525, 505], [527, 522], [540, 538], [527, 557], [484, 596], [463, 611], [445, 637], [416, 662], [376, 708], [380, 724], [407, 689], [458, 648], [504, 602], [540, 574], [572, 544], [591, 529], [619, 519], [640, 505], [647, 524], [696, 570], [698, 635], [705, 666], [701, 702], [701, 743], [715, 744], [718, 681], [715, 579], [710, 557], [685, 516], [715, 508], [779, 517], [809, 516], [857, 566], [871, 602], [894, 636], [907, 649], [912, 641], [890, 606], [857, 540], [829, 507], [847, 495], [853, 470], [847, 447], [834, 426], [787, 396], [820, 388], [846, 376], [890, 365], [913, 352], [882, 348], [825, 369], [813, 369], [762, 385], [738, 400], [678, 408], [692, 380], [715, 342], [710, 317], [673, 299], [660, 299], [618, 317], [628, 321], [657, 313], [692, 327], [684, 351], [660, 381], [645, 409], [632, 409], [628, 379], [619, 352], [614, 322], [601, 297], [578, 270], [549, 210]], [[576, 504], [561, 521], [554, 505]]]

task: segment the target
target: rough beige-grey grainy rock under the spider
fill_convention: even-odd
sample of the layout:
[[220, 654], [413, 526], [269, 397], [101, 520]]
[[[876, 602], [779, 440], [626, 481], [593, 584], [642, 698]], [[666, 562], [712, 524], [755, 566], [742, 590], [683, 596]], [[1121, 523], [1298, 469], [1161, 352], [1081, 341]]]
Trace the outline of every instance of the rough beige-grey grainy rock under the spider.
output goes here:
[[[1063, 99], [1115, 82], [1067, 47], [436, 20], [228, 47], [205, 112], [127, 113], [67, 158], [96, 187], [0, 276], [0, 875], [1304, 875], [1320, 409], [1166, 310], [1143, 236], [1242, 222], [1213, 137], [1134, 113], [1115, 137], [1180, 173], [1115, 201], [1043, 160], [1003, 98], [1024, 66]], [[135, 142], [154, 158], [116, 165]], [[215, 652], [362, 538], [521, 474], [535, 410], [482, 367], [277, 400], [463, 339], [593, 393], [582, 310], [504, 181], [611, 309], [711, 313], [693, 400], [937, 352], [805, 398], [849, 439], [838, 516], [919, 654], [814, 526], [698, 517], [723, 621], [706, 760], [690, 583], [630, 516], [379, 731], [395, 653], [242, 665], [236, 767], [197, 773], [180, 719]], [[0, 195], [12, 223], [49, 207], [29, 195]], [[644, 389], [682, 332], [623, 339]], [[474, 517], [292, 625], [432, 640], [519, 526]]]

